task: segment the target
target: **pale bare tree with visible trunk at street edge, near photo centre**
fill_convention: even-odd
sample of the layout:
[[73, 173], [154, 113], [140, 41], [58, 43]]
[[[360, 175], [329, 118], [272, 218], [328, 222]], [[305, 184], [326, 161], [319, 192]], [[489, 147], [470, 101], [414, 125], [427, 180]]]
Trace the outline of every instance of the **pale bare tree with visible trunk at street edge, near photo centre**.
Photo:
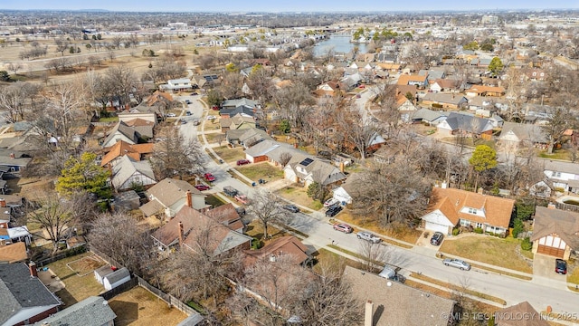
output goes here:
[[268, 226], [271, 223], [282, 221], [286, 217], [286, 213], [281, 206], [280, 197], [268, 190], [259, 189], [253, 193], [247, 210], [248, 213], [251, 213], [261, 221], [264, 239], [270, 236], [268, 234]]

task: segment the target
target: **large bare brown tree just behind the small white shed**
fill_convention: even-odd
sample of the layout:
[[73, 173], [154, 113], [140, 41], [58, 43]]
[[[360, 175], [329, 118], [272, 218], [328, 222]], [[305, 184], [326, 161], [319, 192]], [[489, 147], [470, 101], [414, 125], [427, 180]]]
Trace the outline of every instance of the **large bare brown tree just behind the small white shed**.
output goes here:
[[89, 244], [134, 273], [142, 273], [154, 250], [153, 239], [125, 214], [101, 214], [90, 223]]

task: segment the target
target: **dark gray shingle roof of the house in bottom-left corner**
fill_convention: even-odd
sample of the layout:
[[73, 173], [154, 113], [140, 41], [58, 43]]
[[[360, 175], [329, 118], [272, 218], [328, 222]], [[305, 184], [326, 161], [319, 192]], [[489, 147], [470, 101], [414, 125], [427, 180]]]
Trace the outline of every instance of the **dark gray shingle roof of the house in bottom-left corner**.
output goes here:
[[0, 264], [0, 302], [0, 324], [26, 308], [61, 304], [24, 263]]

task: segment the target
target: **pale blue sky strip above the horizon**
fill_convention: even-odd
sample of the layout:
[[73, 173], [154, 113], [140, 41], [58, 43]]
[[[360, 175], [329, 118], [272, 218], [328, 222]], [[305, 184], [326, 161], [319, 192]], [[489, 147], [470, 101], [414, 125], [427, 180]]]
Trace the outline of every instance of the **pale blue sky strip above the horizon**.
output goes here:
[[130, 12], [392, 12], [508, 9], [577, 9], [579, 0], [0, 0], [7, 10], [106, 9]]

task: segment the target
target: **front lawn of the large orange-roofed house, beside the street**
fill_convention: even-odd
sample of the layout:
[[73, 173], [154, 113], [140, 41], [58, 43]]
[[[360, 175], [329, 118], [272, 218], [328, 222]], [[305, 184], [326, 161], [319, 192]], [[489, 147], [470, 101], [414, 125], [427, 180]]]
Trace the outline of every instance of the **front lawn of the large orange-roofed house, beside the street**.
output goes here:
[[494, 236], [465, 236], [446, 239], [440, 251], [472, 261], [510, 268], [519, 272], [533, 273], [533, 267], [517, 254], [521, 240], [513, 237], [500, 239]]

